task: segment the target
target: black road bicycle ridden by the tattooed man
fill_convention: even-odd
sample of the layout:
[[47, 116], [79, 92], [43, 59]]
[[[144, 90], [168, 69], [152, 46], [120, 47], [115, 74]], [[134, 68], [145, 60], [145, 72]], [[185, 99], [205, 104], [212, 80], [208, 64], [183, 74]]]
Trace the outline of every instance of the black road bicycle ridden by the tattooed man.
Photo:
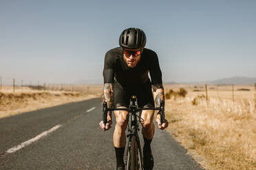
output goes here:
[[107, 123], [107, 112], [114, 110], [125, 110], [129, 112], [129, 123], [127, 134], [127, 151], [125, 156], [125, 167], [127, 170], [143, 170], [143, 158], [142, 149], [140, 147], [140, 138], [138, 136], [139, 123], [142, 123], [143, 119], [136, 113], [142, 110], [159, 110], [161, 123], [164, 123], [164, 101], [160, 102], [158, 108], [138, 108], [136, 96], [131, 96], [130, 105], [128, 108], [107, 108], [107, 102], [103, 102], [103, 123]]

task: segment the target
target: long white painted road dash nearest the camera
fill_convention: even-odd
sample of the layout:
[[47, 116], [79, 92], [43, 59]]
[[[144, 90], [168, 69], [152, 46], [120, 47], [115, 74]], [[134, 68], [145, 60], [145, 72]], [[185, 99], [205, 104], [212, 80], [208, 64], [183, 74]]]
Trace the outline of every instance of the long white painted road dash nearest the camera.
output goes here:
[[59, 127], [61, 127], [62, 125], [56, 125], [54, 127], [52, 127], [50, 130], [47, 130], [45, 132], [42, 132], [41, 134], [37, 135], [36, 137], [34, 138], [31, 138], [30, 140], [28, 141], [25, 141], [19, 145], [17, 145], [16, 147], [12, 147], [11, 149], [8, 149], [6, 151], [6, 153], [8, 154], [11, 154], [11, 153], [14, 153], [15, 151], [18, 151], [19, 149], [22, 149], [23, 147], [25, 146], [28, 146], [30, 145], [31, 143], [35, 142], [35, 141], [38, 141], [41, 137], [43, 136], [46, 136], [47, 134], [50, 134], [51, 132], [54, 132], [54, 130], [57, 130]]

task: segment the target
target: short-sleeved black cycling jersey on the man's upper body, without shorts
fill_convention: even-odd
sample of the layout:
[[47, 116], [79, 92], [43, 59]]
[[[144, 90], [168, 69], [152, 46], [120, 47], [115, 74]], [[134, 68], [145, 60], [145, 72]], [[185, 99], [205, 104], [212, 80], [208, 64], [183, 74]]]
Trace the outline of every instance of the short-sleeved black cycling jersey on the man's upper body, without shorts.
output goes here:
[[143, 49], [140, 61], [134, 68], [129, 68], [123, 58], [121, 47], [107, 51], [104, 64], [104, 83], [120, 83], [122, 86], [136, 84], [162, 84], [162, 73], [160, 70], [158, 56], [151, 49]]

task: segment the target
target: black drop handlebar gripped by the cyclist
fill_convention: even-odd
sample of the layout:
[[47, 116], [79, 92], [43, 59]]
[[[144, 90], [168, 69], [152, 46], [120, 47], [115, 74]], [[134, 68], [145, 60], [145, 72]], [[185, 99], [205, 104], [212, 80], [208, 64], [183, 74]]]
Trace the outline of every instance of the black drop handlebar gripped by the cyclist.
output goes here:
[[103, 102], [103, 123], [106, 125], [107, 123], [107, 112], [114, 110], [125, 110], [127, 112], [138, 112], [140, 110], [159, 110], [160, 112], [160, 121], [164, 123], [164, 101], [160, 101], [160, 107], [158, 108], [137, 108], [136, 106], [129, 106], [129, 108], [107, 108], [107, 102]]

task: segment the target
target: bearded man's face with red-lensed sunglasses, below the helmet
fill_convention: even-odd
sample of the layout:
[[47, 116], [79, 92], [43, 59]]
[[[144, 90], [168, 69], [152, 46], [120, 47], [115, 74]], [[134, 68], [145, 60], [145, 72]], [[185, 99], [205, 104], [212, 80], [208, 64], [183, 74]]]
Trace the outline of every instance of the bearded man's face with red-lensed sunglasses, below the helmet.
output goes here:
[[130, 68], [134, 68], [138, 62], [140, 61], [141, 55], [140, 55], [141, 49], [123, 49], [123, 58], [125, 59], [125, 62], [127, 63], [127, 66]]

